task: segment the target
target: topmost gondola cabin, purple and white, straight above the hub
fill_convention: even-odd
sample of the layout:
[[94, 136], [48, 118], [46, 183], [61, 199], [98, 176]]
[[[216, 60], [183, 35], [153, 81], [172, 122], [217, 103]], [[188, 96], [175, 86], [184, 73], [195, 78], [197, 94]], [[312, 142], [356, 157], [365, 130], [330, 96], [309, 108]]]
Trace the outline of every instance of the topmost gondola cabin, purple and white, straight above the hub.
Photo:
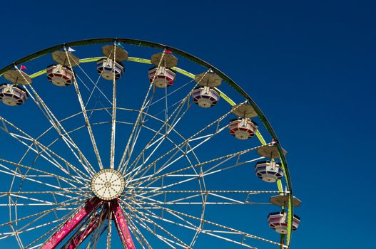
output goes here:
[[123, 63], [110, 58], [98, 60], [96, 68], [98, 74], [106, 80], [113, 80], [114, 73], [116, 80], [120, 79], [124, 74]]

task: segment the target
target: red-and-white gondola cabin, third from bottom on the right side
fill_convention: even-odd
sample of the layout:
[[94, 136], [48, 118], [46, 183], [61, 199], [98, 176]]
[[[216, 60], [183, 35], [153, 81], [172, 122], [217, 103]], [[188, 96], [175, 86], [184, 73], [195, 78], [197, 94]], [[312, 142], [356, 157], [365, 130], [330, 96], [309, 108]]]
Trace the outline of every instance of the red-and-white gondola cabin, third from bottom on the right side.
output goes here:
[[230, 129], [230, 134], [234, 137], [245, 140], [255, 135], [257, 124], [248, 117], [238, 117], [234, 120], [230, 120], [228, 128]]

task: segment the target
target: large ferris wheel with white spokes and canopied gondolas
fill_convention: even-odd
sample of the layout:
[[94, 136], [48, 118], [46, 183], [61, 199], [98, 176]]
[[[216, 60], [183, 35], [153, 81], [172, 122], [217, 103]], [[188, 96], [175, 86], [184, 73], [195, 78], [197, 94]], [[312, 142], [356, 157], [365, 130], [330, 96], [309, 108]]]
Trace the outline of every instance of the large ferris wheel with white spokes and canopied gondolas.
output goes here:
[[290, 248], [300, 200], [286, 152], [213, 65], [98, 38], [16, 60], [0, 79], [1, 245]]

